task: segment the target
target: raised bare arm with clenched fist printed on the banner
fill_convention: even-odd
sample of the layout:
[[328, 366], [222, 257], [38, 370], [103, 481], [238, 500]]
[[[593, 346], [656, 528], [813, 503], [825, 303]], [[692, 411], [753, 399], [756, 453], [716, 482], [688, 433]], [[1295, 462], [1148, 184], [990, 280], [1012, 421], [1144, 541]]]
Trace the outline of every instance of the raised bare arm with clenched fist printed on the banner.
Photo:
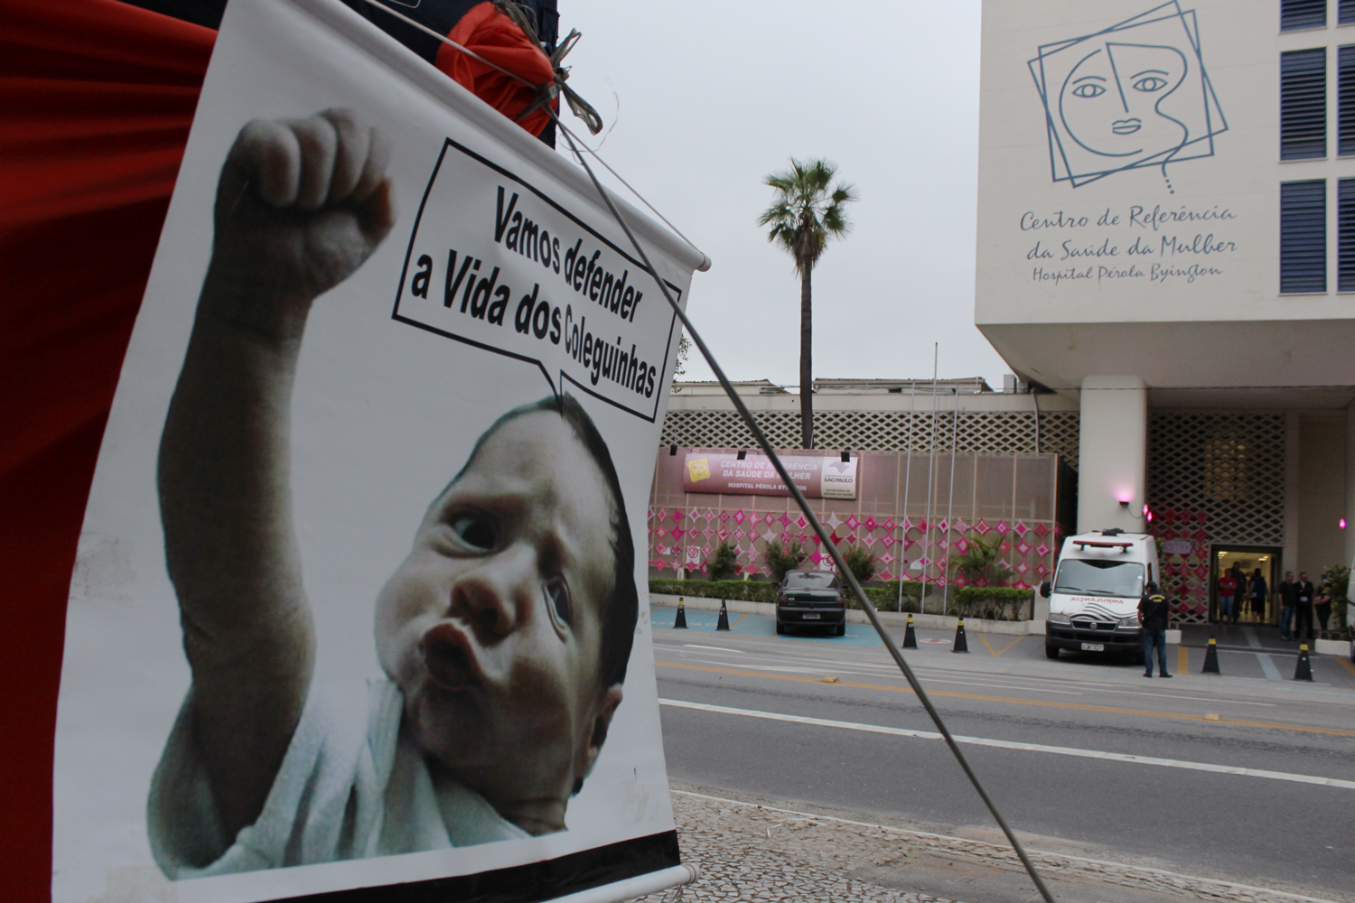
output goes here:
[[394, 222], [385, 139], [346, 111], [255, 120], [221, 171], [211, 263], [160, 443], [194, 732], [228, 837], [253, 823], [313, 666], [289, 410], [310, 305]]

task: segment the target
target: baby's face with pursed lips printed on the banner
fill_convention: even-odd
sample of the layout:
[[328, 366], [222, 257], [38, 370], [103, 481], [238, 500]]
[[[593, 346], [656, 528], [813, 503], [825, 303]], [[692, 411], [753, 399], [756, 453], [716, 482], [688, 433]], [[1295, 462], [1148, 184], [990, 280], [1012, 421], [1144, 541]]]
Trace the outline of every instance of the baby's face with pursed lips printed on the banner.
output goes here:
[[500, 810], [568, 799], [591, 765], [611, 493], [551, 412], [500, 426], [434, 502], [377, 604], [377, 651], [427, 754]]

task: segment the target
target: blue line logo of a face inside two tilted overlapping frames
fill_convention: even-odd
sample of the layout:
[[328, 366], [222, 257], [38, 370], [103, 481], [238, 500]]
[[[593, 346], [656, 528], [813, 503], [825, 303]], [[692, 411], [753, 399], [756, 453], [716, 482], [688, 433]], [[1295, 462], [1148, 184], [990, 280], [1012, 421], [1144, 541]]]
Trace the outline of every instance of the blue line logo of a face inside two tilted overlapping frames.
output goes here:
[[1205, 70], [1195, 11], [1177, 0], [1081, 38], [1039, 47], [1054, 181], [1081, 187], [1126, 169], [1214, 156], [1228, 130]]

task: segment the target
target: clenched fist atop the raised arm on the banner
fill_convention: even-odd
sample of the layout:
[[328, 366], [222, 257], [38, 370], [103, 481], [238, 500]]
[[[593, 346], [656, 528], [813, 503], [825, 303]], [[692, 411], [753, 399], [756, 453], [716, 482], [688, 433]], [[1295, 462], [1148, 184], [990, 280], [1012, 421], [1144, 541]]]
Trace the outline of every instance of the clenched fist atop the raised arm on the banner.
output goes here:
[[350, 110], [255, 119], [217, 185], [213, 278], [308, 305], [351, 276], [396, 219], [385, 137]]

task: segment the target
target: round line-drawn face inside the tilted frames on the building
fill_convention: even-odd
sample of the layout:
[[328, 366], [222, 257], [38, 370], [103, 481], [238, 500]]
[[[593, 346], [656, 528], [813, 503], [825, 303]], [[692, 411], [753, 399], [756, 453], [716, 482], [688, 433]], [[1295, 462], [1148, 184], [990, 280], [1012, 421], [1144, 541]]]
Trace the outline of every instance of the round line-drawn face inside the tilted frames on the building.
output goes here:
[[1175, 150], [1190, 138], [1161, 102], [1186, 80], [1176, 47], [1107, 43], [1083, 57], [1058, 97], [1058, 115], [1079, 145], [1106, 157]]

